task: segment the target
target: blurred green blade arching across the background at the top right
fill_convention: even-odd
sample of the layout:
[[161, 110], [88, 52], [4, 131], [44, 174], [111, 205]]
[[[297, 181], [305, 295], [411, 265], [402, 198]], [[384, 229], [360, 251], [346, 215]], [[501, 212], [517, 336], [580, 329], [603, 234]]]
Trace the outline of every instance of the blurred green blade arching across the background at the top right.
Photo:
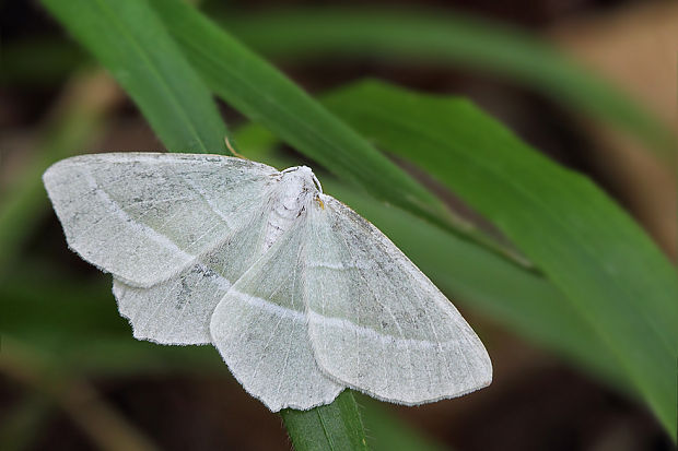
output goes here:
[[503, 23], [443, 11], [326, 7], [230, 14], [222, 22], [271, 58], [378, 58], [495, 73], [633, 133], [664, 156], [675, 152], [676, 134], [613, 83]]

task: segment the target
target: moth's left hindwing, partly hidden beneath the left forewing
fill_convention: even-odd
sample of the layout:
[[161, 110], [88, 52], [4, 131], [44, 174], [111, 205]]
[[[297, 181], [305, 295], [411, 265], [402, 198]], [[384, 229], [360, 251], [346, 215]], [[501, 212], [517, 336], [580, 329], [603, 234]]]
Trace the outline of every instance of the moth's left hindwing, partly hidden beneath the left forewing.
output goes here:
[[211, 343], [210, 318], [229, 288], [265, 252], [270, 202], [174, 277], [148, 288], [114, 280], [120, 314], [136, 339], [162, 344]]

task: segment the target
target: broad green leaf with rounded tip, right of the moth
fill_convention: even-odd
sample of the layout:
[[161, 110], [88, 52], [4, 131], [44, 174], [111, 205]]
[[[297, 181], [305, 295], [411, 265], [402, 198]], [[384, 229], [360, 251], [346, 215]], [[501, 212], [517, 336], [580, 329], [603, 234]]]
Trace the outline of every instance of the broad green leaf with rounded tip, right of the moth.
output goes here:
[[588, 321], [675, 438], [678, 280], [628, 214], [466, 100], [367, 82], [327, 105], [512, 239]]

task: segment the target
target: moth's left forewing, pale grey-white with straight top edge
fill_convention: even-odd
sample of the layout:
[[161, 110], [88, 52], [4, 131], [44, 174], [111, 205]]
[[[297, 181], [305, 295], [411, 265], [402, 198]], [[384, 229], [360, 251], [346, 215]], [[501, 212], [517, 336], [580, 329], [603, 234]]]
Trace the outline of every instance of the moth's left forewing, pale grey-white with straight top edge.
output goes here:
[[261, 207], [278, 171], [220, 155], [106, 153], [43, 176], [71, 249], [118, 281], [177, 274]]

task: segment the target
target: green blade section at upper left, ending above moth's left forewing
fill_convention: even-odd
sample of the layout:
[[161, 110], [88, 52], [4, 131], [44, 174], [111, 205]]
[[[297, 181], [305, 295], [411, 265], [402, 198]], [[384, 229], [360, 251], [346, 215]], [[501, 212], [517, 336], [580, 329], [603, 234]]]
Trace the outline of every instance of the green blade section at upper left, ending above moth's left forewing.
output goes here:
[[222, 153], [226, 128], [200, 76], [144, 0], [43, 0], [175, 152]]

